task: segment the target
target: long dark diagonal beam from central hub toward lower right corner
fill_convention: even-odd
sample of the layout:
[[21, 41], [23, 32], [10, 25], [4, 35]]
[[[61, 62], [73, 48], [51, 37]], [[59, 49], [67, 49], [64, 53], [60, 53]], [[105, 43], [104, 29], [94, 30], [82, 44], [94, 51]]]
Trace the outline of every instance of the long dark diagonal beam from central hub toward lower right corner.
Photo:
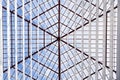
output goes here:
[[[65, 44], [67, 44], [67, 45], [69, 45], [70, 47], [72, 47], [72, 48], [75, 48], [73, 45], [71, 45], [71, 44], [69, 44], [69, 43], [67, 43], [66, 41], [64, 41], [64, 40], [61, 40], [62, 42], [64, 42]], [[87, 56], [87, 57], [89, 57], [89, 55], [88, 54], [86, 54], [85, 52], [82, 52], [81, 50], [79, 50], [78, 48], [76, 48], [76, 50], [78, 51], [78, 52], [80, 52], [80, 53], [83, 53], [85, 56]], [[94, 60], [94, 61], [96, 61], [96, 59], [95, 58], [93, 58], [93, 57], [90, 57], [92, 60]], [[98, 63], [99, 64], [101, 64], [101, 65], [103, 65], [103, 63], [102, 62], [100, 62], [100, 61], [98, 61]], [[74, 67], [74, 66], [73, 66]], [[109, 66], [106, 66], [106, 68], [108, 68], [108, 69], [110, 69], [110, 67]], [[113, 72], [115, 72], [116, 73], [116, 71], [115, 70], [113, 70]]]

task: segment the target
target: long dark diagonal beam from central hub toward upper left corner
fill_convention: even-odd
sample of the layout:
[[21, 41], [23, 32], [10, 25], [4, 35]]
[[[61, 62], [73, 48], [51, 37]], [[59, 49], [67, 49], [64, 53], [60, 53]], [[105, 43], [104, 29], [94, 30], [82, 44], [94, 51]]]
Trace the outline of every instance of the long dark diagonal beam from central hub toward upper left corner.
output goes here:
[[[5, 9], [5, 10], [7, 10], [7, 8], [4, 7], [4, 6], [2, 6], [2, 8]], [[11, 12], [12, 14], [15, 14], [15, 13], [14, 13], [13, 11], [11, 11], [11, 10], [10, 10], [10, 12]], [[17, 17], [23, 19], [23, 17], [20, 16], [20, 15], [17, 15]], [[29, 20], [27, 20], [27, 19], [24, 19], [24, 20], [25, 20], [26, 22], [30, 23]], [[35, 26], [36, 28], [38, 27], [38, 26], [37, 26], [36, 24], [34, 24], [34, 23], [32, 23], [32, 25]], [[44, 32], [46, 32], [46, 33], [48, 33], [49, 35], [51, 35], [51, 36], [57, 38], [55, 35], [53, 35], [52, 33], [48, 32], [48, 31], [46, 31], [45, 29], [43, 29], [43, 28], [41, 28], [41, 27], [39, 27], [39, 29], [42, 30], [42, 31], [44, 31]]]

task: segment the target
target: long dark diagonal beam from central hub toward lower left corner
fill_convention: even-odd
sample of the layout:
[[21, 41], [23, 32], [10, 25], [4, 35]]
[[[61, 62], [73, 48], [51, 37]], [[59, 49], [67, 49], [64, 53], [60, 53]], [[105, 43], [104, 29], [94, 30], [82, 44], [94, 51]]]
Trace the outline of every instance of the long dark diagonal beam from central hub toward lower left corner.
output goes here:
[[[48, 45], [46, 45], [46, 46], [44, 46], [44, 47], [42, 47], [41, 49], [39, 49], [39, 51], [45, 49], [46, 47], [50, 46], [51, 44], [55, 43], [56, 41], [57, 41], [57, 40], [49, 43]], [[39, 51], [34, 52], [34, 53], [32, 54], [32, 56], [35, 55], [35, 54], [37, 54]], [[25, 57], [25, 60], [27, 60], [27, 59], [30, 58], [30, 57], [31, 57], [30, 55], [27, 56], [27, 57]], [[20, 60], [17, 64], [20, 64], [20, 63], [22, 63], [22, 62], [23, 62], [23, 60]], [[12, 65], [10, 68], [14, 68], [14, 67], [15, 67], [15, 64]], [[5, 73], [6, 71], [8, 71], [8, 69], [4, 70], [3, 73]]]

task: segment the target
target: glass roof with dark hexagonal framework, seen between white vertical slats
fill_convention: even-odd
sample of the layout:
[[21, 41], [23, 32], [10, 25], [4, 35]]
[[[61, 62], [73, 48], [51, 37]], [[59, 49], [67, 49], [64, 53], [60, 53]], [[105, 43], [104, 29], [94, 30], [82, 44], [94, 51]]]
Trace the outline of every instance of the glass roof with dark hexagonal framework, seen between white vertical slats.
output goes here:
[[[95, 80], [95, 64], [98, 63], [99, 79], [102, 78], [103, 59], [99, 57], [96, 61], [96, 13], [99, 15], [99, 34], [98, 34], [98, 55], [103, 55], [103, 2], [99, 0], [99, 12], [96, 12], [96, 0], [31, 0], [32, 1], [32, 19], [30, 19], [30, 0], [24, 0], [25, 15], [25, 77], [30, 80], [30, 32], [29, 25], [32, 24], [32, 79], [33, 80], [58, 80], [61, 74], [61, 80], [84, 80], [89, 77], [89, 65], [91, 66], [91, 76]], [[106, 13], [108, 22], [108, 56], [105, 66], [106, 73], [109, 74], [109, 28], [110, 28], [110, 0], [106, 0]], [[39, 3], [38, 3], [39, 2]], [[84, 3], [84, 4], [82, 4]], [[4, 35], [4, 80], [7, 80], [7, 0], [3, 0], [3, 35]], [[23, 80], [23, 57], [22, 57], [22, 19], [23, 5], [22, 0], [17, 0], [17, 24], [18, 24], [18, 77]], [[60, 7], [60, 11], [59, 11]], [[39, 10], [38, 10], [39, 9]], [[91, 9], [91, 11], [90, 11]], [[116, 36], [116, 15], [117, 0], [114, 0], [115, 27], [114, 35]], [[91, 13], [91, 14], [90, 14]], [[15, 80], [15, 1], [10, 0], [11, 14], [11, 80]], [[91, 16], [91, 18], [90, 18]], [[60, 21], [59, 21], [60, 18]], [[91, 20], [90, 20], [91, 19]], [[32, 23], [30, 22], [32, 20]], [[89, 22], [91, 21], [91, 50], [89, 50]], [[59, 26], [60, 24], [60, 26]], [[60, 27], [60, 30], [59, 30]], [[39, 28], [39, 39], [37, 39], [37, 29]], [[59, 32], [58, 32], [59, 31]], [[76, 32], [76, 46], [74, 45], [74, 32]], [[59, 35], [60, 33], [60, 35]], [[114, 37], [114, 42], [116, 42]], [[38, 40], [38, 43], [37, 43]], [[38, 45], [39, 44], [39, 45]], [[60, 44], [60, 46], [59, 46]], [[37, 50], [39, 46], [39, 51]], [[82, 49], [84, 45], [84, 49]], [[60, 52], [59, 52], [60, 51]], [[89, 52], [91, 51], [92, 54]], [[91, 55], [89, 57], [89, 55]], [[114, 55], [116, 55], [116, 44], [114, 44]], [[60, 63], [59, 63], [59, 58]], [[115, 58], [116, 59], [116, 58]], [[115, 60], [114, 60], [115, 61]], [[116, 64], [116, 61], [115, 61]], [[61, 65], [59, 67], [59, 65]], [[61, 68], [61, 72], [59, 72]], [[75, 70], [75, 72], [74, 72]], [[116, 79], [116, 66], [113, 70], [114, 79]], [[109, 76], [106, 76], [108, 80]]]

